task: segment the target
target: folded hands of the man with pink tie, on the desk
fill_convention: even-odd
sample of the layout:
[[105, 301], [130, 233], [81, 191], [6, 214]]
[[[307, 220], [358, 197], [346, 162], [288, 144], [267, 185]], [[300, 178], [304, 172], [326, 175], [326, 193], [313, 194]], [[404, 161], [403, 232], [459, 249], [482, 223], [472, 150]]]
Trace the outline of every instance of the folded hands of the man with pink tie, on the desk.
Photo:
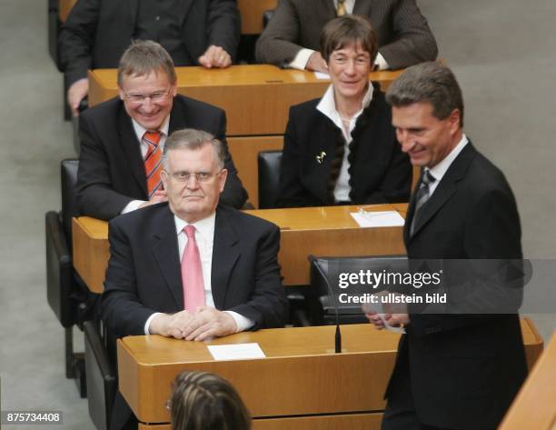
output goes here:
[[237, 331], [237, 325], [227, 312], [210, 306], [199, 306], [195, 312], [184, 310], [173, 315], [156, 315], [149, 329], [152, 335], [204, 341], [232, 335]]

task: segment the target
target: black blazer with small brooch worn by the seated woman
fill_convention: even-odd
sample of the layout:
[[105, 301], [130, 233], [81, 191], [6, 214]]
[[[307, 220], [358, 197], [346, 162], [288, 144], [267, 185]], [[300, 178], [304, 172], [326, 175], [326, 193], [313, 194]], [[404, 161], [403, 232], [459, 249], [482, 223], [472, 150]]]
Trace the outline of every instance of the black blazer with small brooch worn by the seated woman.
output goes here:
[[[345, 140], [340, 128], [311, 100], [290, 109], [284, 135], [277, 205], [333, 205]], [[357, 119], [350, 144], [349, 174], [354, 205], [409, 201], [412, 165], [402, 153], [392, 128], [392, 109], [374, 88], [371, 104]], [[316, 156], [326, 153], [323, 163]], [[335, 177], [334, 177], [335, 176]]]

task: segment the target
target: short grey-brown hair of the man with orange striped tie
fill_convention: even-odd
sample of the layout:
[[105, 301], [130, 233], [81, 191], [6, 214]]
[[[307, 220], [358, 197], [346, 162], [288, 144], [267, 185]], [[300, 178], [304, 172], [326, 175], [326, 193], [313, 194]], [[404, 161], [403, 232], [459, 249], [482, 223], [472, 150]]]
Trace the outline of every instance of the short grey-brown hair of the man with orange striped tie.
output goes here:
[[168, 52], [152, 40], [134, 40], [125, 50], [118, 65], [118, 85], [121, 87], [124, 76], [145, 76], [162, 70], [174, 85], [177, 81], [174, 60]]

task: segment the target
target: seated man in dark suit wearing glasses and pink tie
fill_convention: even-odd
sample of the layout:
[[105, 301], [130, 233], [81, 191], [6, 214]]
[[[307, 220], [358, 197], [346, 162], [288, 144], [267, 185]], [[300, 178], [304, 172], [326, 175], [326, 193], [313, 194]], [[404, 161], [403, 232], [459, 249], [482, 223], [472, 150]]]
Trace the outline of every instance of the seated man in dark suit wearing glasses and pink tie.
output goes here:
[[[163, 157], [168, 203], [110, 222], [102, 297], [110, 335], [202, 341], [285, 324], [280, 231], [218, 205], [224, 152], [213, 135], [175, 132]], [[130, 414], [118, 395], [112, 428], [122, 428]]]

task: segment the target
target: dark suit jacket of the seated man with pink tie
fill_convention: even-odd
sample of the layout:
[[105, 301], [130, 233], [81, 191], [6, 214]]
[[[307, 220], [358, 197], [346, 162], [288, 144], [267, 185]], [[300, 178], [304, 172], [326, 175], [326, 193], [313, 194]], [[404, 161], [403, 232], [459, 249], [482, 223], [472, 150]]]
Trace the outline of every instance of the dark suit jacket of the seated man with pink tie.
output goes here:
[[[174, 215], [166, 203], [114, 218], [108, 239], [102, 317], [110, 337], [144, 335], [144, 324], [154, 312], [184, 310]], [[288, 303], [277, 260], [279, 246], [276, 225], [218, 206], [211, 275], [216, 308], [250, 318], [253, 329], [282, 327]], [[131, 414], [118, 393], [111, 428], [122, 428]]]

